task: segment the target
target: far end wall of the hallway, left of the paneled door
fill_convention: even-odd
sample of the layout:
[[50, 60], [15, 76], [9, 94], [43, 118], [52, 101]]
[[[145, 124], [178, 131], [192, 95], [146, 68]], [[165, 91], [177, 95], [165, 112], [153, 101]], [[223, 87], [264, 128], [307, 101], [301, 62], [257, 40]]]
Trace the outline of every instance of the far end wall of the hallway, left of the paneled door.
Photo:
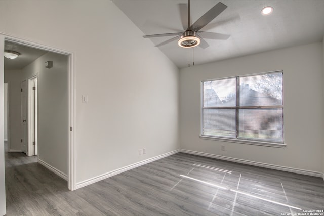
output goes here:
[[5, 70], [5, 82], [9, 84], [9, 134], [8, 151], [21, 152], [21, 125], [20, 125], [20, 89], [22, 70]]

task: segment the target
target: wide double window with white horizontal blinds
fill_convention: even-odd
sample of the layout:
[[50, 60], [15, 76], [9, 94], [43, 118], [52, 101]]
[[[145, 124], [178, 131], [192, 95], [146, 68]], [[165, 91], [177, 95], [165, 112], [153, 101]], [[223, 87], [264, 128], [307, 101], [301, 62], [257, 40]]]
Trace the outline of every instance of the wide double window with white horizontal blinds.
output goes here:
[[201, 136], [284, 143], [283, 72], [202, 81]]

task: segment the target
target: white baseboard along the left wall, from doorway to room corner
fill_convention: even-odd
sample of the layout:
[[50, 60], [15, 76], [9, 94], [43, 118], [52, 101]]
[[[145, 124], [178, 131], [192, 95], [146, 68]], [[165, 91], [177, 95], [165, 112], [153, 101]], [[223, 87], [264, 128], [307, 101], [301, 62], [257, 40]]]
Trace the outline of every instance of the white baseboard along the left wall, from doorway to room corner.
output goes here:
[[91, 185], [93, 183], [96, 183], [96, 182], [99, 182], [101, 180], [104, 180], [104, 179], [107, 179], [109, 177], [112, 177], [112, 176], [115, 176], [117, 174], [120, 174], [121, 172], [125, 172], [125, 171], [128, 171], [130, 169], [133, 169], [133, 168], [142, 166], [144, 164], [153, 162], [155, 160], [159, 160], [159, 159], [168, 157], [168, 156], [173, 155], [173, 154], [176, 154], [178, 152], [180, 152], [180, 150], [171, 151], [171, 152], [168, 152], [168, 153], [165, 153], [165, 154], [161, 154], [159, 156], [152, 157], [152, 158], [149, 158], [149, 159], [146, 159], [146, 160], [143, 160], [143, 161], [140, 161], [140, 162], [137, 162], [137, 163], [128, 165], [128, 166], [121, 167], [119, 169], [115, 169], [113, 171], [107, 172], [106, 174], [102, 174], [100, 176], [93, 177], [91, 179], [88, 179], [88, 180], [85, 180], [85, 181], [82, 181], [82, 182], [78, 182], [78, 183], [76, 183], [75, 189], [79, 189], [79, 188], [85, 187], [87, 185]]

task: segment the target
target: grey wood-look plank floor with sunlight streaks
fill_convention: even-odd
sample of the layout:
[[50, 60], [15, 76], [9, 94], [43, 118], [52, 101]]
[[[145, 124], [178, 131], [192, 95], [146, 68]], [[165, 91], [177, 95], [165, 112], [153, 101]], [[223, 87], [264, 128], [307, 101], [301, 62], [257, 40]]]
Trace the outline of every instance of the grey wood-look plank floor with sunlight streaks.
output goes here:
[[321, 178], [184, 153], [76, 191], [36, 157], [5, 153], [5, 160], [7, 215], [252, 216], [324, 209]]

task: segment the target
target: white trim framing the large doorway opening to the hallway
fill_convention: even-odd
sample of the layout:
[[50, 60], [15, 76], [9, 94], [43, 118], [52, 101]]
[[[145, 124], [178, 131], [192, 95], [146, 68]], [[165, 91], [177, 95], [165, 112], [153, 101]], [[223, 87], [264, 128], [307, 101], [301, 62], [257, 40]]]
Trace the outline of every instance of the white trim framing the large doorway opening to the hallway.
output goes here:
[[[76, 189], [75, 186], [75, 55], [71, 51], [62, 50], [55, 47], [50, 47], [43, 44], [26, 40], [23, 38], [14, 37], [8, 34], [0, 32], [0, 35], [4, 36], [4, 41], [0, 42], [14, 42], [23, 46], [28, 46], [40, 50], [46, 50], [49, 52], [66, 55], [68, 57], [68, 68], [67, 68], [67, 89], [68, 89], [68, 145], [67, 145], [67, 186], [68, 189], [73, 191]], [[1, 37], [0, 37], [1, 38]], [[4, 74], [4, 68], [0, 68], [0, 74]], [[71, 129], [70, 129], [71, 128]]]

